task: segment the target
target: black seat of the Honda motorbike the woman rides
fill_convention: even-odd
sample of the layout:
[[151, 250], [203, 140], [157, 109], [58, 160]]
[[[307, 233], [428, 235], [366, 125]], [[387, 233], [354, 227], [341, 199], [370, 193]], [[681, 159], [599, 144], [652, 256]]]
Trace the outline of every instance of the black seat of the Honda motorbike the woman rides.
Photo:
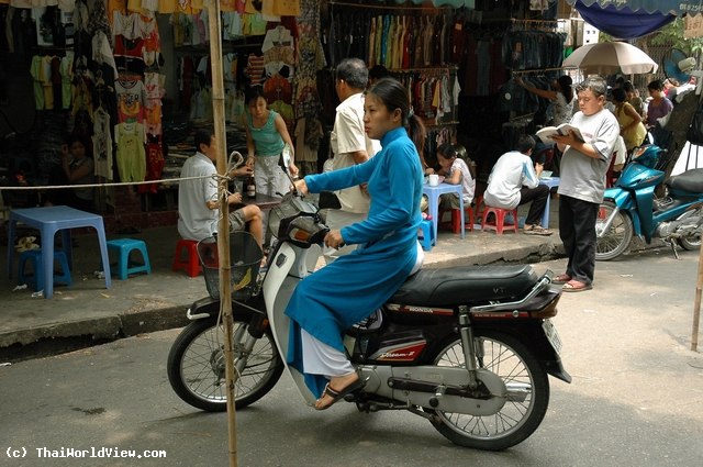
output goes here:
[[421, 269], [408, 278], [388, 303], [454, 307], [510, 299], [525, 294], [538, 278], [529, 265]]

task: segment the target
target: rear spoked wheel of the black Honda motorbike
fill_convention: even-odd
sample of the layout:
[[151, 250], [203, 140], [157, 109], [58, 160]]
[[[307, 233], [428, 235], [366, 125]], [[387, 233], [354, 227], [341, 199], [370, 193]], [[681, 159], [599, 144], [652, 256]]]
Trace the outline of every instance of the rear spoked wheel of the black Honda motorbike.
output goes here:
[[[503, 380], [507, 389], [505, 404], [491, 415], [425, 411], [437, 416], [433, 425], [453, 443], [501, 451], [521, 443], [537, 430], [549, 404], [549, 381], [544, 367], [520, 341], [491, 331], [475, 334], [478, 367]], [[435, 365], [466, 367], [458, 336], [438, 353]]]

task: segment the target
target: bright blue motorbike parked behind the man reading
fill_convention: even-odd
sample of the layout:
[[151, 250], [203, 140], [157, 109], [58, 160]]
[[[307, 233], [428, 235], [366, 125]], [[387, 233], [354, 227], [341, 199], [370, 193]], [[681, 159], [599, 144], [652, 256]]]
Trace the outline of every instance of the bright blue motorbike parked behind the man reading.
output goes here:
[[605, 190], [595, 224], [595, 259], [616, 258], [628, 249], [633, 234], [650, 244], [661, 238], [684, 249], [701, 247], [703, 232], [703, 168], [688, 170], [665, 182], [665, 194], [655, 194], [663, 181], [659, 165], [663, 149], [641, 146], [632, 155], [621, 177]]

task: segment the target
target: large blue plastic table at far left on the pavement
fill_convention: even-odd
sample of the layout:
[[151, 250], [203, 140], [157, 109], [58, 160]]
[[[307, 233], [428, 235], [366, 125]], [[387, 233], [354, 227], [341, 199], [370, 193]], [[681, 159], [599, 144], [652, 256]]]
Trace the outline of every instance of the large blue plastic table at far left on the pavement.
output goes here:
[[102, 257], [102, 270], [105, 275], [105, 288], [110, 288], [112, 280], [110, 277], [110, 259], [108, 257], [108, 243], [105, 240], [105, 229], [102, 216], [86, 211], [79, 211], [66, 205], [54, 205], [46, 208], [14, 209], [10, 211], [8, 225], [8, 277], [12, 277], [12, 266], [14, 262], [14, 242], [16, 236], [16, 224], [22, 222], [37, 229], [42, 235], [42, 263], [43, 271], [35, 274], [44, 275], [44, 298], [54, 297], [54, 236], [62, 231], [62, 245], [68, 266], [74, 267], [72, 249], [70, 242], [70, 229], [93, 227], [98, 232], [100, 242], [100, 256]]

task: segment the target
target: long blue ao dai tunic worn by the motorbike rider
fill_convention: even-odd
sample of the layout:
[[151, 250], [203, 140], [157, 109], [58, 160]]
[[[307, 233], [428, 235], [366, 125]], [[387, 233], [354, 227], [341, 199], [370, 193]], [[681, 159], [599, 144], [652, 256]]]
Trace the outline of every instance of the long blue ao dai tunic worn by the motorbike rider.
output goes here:
[[[365, 221], [342, 229], [344, 241], [359, 247], [304, 278], [286, 309], [291, 319], [288, 363], [303, 374], [300, 327], [344, 352], [344, 331], [383, 304], [415, 265], [422, 220], [420, 156], [403, 127], [386, 133], [381, 146], [364, 164], [305, 177], [311, 192], [368, 182], [371, 205]], [[305, 381], [317, 397], [327, 382], [320, 375], [305, 375]]]

